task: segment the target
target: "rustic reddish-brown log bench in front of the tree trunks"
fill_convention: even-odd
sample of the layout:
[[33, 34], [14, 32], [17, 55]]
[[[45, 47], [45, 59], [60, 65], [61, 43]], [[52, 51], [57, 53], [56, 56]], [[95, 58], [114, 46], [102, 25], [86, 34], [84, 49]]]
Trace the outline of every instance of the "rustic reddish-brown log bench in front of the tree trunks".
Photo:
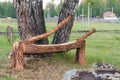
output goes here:
[[85, 38], [90, 36], [96, 30], [92, 29], [91, 31], [84, 34], [81, 38], [76, 39], [72, 42], [62, 43], [62, 44], [50, 44], [50, 45], [37, 45], [33, 42], [46, 38], [49, 35], [53, 34], [63, 25], [65, 25], [69, 20], [70, 16], [59, 23], [53, 30], [50, 32], [38, 35], [32, 38], [25, 39], [21, 42], [15, 42], [13, 44], [13, 54], [11, 67], [23, 70], [24, 69], [24, 54], [44, 54], [44, 53], [56, 53], [56, 52], [66, 52], [71, 49], [76, 49], [76, 58], [75, 61], [79, 62], [81, 65], [86, 64], [85, 60]]

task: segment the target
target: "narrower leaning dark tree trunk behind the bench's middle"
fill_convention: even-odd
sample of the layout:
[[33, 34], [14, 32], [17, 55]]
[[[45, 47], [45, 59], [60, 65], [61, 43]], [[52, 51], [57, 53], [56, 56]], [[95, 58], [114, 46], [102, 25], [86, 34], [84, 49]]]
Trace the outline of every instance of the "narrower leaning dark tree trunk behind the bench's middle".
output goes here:
[[59, 29], [53, 38], [52, 44], [65, 43], [69, 40], [69, 35], [75, 19], [75, 7], [79, 0], [64, 0], [62, 10], [59, 14], [58, 23], [60, 23], [67, 16], [72, 16], [71, 20], [61, 29]]

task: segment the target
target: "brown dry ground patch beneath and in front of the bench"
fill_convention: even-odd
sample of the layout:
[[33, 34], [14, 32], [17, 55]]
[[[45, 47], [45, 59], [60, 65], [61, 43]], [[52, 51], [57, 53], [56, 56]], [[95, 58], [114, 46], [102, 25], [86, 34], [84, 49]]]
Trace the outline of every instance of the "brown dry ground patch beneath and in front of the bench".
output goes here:
[[[8, 69], [8, 65], [1, 69], [4, 75], [10, 75], [19, 80], [61, 80], [67, 70], [82, 67], [70, 62], [68, 58], [49, 57], [42, 59], [26, 59], [25, 70]], [[86, 66], [87, 67], [87, 66]]]

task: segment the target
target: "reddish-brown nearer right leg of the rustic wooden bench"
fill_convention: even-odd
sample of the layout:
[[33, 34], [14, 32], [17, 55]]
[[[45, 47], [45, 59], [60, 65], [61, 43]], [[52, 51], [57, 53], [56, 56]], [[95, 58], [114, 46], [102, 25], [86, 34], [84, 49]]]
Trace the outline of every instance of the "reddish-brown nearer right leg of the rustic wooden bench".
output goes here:
[[79, 50], [79, 62], [81, 65], [86, 65], [85, 59], [85, 40], [82, 42], [80, 50]]

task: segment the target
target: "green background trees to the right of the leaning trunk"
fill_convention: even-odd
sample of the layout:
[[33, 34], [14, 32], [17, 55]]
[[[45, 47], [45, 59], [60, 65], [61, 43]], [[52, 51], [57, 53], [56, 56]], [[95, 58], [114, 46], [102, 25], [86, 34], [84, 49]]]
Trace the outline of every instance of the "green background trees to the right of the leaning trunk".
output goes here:
[[90, 4], [90, 15], [91, 17], [102, 17], [103, 13], [106, 11], [112, 11], [120, 16], [120, 1], [119, 0], [85, 0], [77, 8], [77, 15], [80, 16], [84, 13], [84, 16], [87, 16], [88, 13], [88, 3]]

